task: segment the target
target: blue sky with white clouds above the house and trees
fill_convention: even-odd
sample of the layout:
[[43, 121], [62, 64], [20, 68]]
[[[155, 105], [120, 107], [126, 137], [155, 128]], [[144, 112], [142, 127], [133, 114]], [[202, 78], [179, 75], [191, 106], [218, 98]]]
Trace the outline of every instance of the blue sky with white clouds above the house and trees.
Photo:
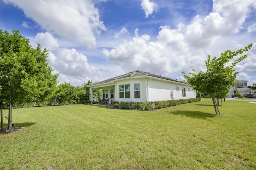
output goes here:
[[134, 70], [183, 80], [208, 55], [250, 43], [237, 79], [256, 83], [255, 0], [0, 0], [0, 29], [49, 49], [60, 83]]

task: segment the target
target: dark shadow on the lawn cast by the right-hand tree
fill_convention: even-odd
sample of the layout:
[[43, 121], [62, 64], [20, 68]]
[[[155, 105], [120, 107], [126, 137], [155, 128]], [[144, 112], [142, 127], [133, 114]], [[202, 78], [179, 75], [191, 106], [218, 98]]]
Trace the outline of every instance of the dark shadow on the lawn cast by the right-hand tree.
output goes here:
[[188, 111], [188, 110], [176, 110], [176, 111], [169, 111], [169, 114], [173, 115], [181, 115], [186, 117], [198, 118], [198, 119], [206, 119], [214, 117], [214, 114], [204, 113], [201, 111]]

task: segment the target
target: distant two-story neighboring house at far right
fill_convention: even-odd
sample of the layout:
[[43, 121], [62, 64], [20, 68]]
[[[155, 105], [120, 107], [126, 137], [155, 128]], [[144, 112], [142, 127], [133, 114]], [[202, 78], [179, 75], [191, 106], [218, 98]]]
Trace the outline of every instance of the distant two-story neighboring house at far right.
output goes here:
[[230, 86], [228, 98], [232, 98], [232, 95], [234, 95], [236, 92], [240, 92], [242, 96], [250, 93], [251, 89], [247, 87], [247, 80], [235, 80], [235, 82], [237, 82], [238, 85], [232, 84]]

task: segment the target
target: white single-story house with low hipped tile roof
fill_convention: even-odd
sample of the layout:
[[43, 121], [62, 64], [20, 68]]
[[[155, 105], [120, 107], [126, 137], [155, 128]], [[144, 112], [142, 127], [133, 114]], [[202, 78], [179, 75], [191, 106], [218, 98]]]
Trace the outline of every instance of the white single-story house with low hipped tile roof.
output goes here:
[[118, 102], [154, 102], [196, 98], [196, 92], [183, 81], [144, 71], [133, 71], [88, 85], [90, 100], [93, 88], [102, 89], [102, 99]]

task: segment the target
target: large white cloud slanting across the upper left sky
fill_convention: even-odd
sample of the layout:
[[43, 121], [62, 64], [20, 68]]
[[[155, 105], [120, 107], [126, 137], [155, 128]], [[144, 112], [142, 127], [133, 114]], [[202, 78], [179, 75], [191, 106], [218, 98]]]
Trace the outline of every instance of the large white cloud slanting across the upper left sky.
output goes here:
[[96, 48], [95, 34], [106, 30], [90, 0], [4, 0], [22, 9], [47, 32]]

